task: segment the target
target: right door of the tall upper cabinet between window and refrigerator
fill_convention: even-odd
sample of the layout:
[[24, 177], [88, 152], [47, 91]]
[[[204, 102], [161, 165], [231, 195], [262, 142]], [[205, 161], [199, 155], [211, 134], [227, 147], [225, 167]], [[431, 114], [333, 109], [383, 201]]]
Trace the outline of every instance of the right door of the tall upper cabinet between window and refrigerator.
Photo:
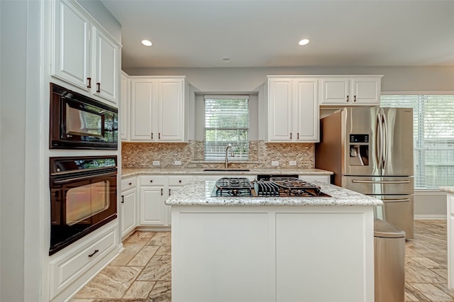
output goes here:
[[[317, 79], [295, 79], [294, 140], [319, 142], [319, 99]], [[295, 134], [294, 134], [295, 135]]]

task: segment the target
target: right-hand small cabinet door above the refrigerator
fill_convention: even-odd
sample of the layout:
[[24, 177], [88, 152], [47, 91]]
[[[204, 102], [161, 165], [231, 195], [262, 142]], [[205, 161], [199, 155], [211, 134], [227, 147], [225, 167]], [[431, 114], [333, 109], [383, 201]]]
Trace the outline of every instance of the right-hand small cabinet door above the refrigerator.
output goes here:
[[353, 104], [380, 104], [380, 79], [358, 78], [353, 79], [352, 83]]

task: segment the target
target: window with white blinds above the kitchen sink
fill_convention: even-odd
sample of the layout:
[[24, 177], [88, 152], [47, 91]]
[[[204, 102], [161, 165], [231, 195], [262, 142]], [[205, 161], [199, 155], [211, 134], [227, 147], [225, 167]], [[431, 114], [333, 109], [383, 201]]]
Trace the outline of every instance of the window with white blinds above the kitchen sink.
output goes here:
[[249, 96], [205, 95], [205, 160], [223, 160], [228, 144], [236, 160], [249, 157]]

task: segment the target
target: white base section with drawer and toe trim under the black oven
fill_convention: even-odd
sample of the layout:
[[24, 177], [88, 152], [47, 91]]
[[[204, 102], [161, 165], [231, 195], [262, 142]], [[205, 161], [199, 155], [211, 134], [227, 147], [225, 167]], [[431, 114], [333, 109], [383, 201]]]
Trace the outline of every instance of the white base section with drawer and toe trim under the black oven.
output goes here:
[[64, 301], [118, 253], [118, 220], [113, 220], [50, 257], [50, 301]]

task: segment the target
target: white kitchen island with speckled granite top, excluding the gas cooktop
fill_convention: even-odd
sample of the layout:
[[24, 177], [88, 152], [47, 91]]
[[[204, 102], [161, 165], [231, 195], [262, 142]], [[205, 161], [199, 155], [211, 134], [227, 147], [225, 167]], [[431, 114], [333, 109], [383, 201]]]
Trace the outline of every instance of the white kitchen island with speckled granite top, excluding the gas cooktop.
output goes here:
[[172, 206], [172, 301], [373, 301], [374, 206], [329, 197], [211, 197], [194, 181]]

